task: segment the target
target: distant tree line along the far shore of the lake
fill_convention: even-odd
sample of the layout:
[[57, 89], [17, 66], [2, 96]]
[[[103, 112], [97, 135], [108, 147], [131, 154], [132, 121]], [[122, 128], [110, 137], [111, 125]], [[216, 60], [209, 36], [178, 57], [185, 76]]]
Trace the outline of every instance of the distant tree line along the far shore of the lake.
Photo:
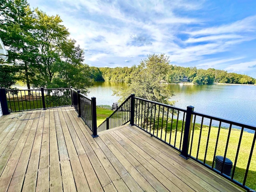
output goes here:
[[[136, 66], [108, 68], [101, 67], [99, 71], [102, 74], [102, 80], [109, 82], [130, 82]], [[225, 70], [209, 68], [207, 70], [197, 69], [196, 67], [181, 67], [169, 65], [166, 68], [167, 73], [162, 80], [167, 83], [180, 83], [186, 77], [187, 82], [194, 84], [213, 84], [213, 83], [230, 83], [230, 84], [256, 84], [256, 79], [236, 73], [228, 73]]]

